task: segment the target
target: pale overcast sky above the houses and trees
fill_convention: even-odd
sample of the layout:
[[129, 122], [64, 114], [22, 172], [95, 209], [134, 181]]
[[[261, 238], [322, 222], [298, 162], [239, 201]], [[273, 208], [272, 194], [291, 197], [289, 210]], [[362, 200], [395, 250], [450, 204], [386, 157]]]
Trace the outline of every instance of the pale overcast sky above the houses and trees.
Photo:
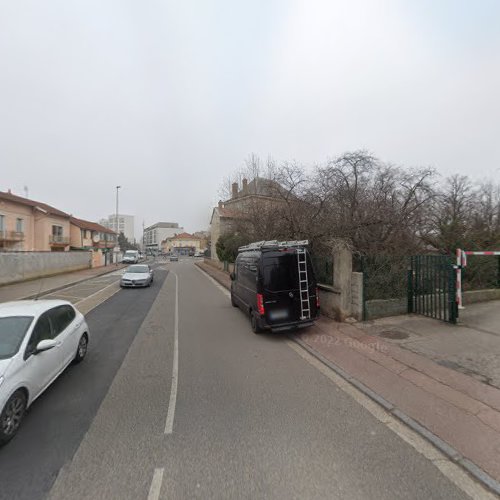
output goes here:
[[0, 0], [0, 190], [206, 229], [249, 153], [500, 177], [498, 0]]

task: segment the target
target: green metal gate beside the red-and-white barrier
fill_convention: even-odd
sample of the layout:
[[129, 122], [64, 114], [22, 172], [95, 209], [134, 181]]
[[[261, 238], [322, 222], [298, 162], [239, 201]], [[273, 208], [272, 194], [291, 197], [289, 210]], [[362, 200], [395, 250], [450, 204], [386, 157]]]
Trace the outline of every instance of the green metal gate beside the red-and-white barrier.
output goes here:
[[408, 312], [456, 323], [455, 267], [446, 255], [417, 255], [408, 271]]

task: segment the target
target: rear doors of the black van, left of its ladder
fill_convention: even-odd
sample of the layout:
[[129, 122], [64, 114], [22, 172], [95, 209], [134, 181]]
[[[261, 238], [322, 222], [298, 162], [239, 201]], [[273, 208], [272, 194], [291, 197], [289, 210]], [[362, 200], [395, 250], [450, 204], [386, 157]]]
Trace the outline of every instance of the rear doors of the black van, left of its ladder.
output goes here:
[[295, 250], [262, 254], [261, 283], [269, 325], [300, 320], [300, 292]]

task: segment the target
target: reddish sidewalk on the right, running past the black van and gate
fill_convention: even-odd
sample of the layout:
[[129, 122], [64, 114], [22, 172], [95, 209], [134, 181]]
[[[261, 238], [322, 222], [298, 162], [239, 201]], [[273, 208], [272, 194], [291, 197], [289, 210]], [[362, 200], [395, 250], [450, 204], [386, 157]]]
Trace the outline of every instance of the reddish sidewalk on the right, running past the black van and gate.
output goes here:
[[[198, 265], [230, 286], [227, 273]], [[293, 339], [500, 493], [499, 389], [325, 317]]]

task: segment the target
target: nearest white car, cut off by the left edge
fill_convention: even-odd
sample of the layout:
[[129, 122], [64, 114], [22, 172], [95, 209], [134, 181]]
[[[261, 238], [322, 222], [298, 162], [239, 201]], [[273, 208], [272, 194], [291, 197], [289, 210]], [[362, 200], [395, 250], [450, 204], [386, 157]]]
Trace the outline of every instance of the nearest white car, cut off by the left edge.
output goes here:
[[0, 304], [0, 446], [26, 409], [72, 362], [87, 354], [89, 328], [65, 300]]

